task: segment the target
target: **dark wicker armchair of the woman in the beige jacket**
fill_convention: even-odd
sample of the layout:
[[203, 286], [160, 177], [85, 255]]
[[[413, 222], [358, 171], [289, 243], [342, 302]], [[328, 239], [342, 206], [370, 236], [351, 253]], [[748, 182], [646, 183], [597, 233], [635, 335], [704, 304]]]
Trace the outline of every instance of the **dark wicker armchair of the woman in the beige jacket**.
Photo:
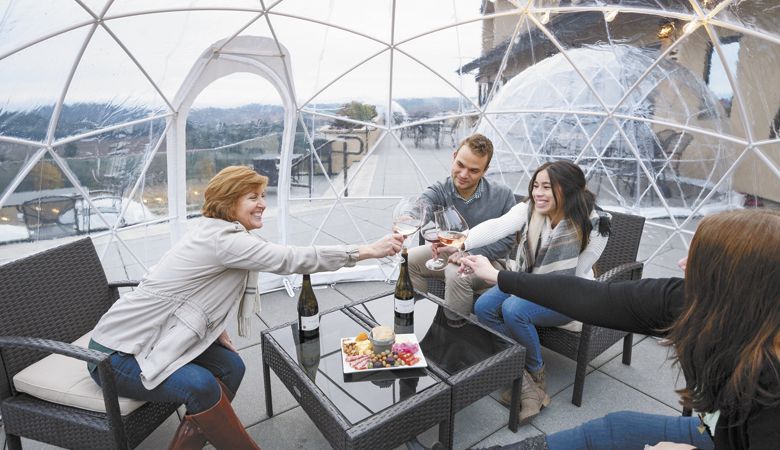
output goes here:
[[[0, 266], [0, 399], [8, 448], [21, 436], [65, 448], [136, 447], [178, 405], [145, 403], [120, 414], [113, 370], [104, 353], [69, 344], [89, 332], [118, 298], [92, 245], [81, 239]], [[108, 413], [88, 411], [18, 392], [13, 377], [47, 354], [98, 364]], [[55, 375], [56, 376], [56, 375]]]

